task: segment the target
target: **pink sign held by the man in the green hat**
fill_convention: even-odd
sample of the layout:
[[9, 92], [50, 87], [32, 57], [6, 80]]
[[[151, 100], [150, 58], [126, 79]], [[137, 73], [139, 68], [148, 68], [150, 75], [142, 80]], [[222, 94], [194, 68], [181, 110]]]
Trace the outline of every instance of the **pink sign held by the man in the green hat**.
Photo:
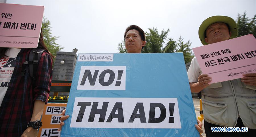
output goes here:
[[210, 83], [244, 77], [256, 73], [256, 40], [252, 34], [193, 48], [203, 74]]

